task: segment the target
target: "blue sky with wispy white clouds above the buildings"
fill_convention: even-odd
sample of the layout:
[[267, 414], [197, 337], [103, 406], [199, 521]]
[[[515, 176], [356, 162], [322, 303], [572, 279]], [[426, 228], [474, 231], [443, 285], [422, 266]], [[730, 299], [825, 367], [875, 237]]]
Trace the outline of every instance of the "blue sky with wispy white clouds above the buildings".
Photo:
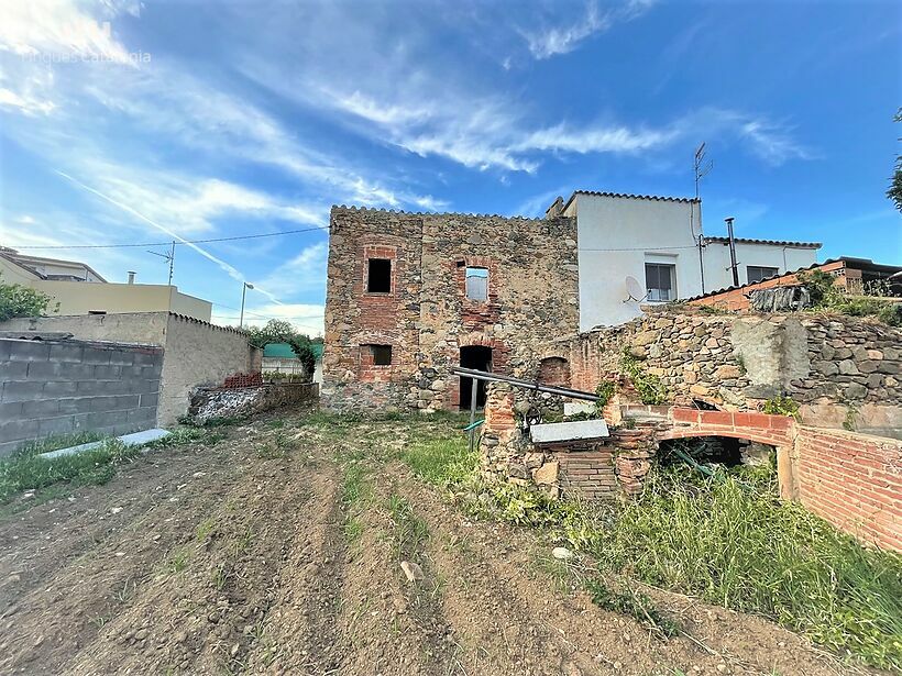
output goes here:
[[[329, 207], [691, 196], [707, 234], [902, 263], [898, 2], [0, 5], [0, 243], [180, 245], [175, 284], [317, 333]], [[146, 247], [29, 250], [165, 282]], [[164, 251], [163, 247], [155, 247]]]

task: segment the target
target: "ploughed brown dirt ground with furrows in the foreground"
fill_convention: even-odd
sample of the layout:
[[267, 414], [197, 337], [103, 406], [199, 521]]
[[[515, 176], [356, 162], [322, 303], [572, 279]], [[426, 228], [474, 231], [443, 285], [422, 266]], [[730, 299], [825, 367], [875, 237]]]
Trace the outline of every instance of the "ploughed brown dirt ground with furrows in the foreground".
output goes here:
[[[150, 452], [3, 517], [0, 673], [864, 673], [683, 596], [648, 590], [678, 639], [600, 610], [537, 533], [469, 519], [392, 459], [448, 423], [302, 418]], [[365, 499], [349, 479], [364, 469]]]

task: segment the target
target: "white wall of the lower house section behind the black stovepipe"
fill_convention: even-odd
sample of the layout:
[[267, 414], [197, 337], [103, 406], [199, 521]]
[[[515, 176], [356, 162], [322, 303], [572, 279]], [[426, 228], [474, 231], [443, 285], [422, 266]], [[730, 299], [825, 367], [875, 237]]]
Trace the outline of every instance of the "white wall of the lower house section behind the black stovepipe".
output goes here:
[[[708, 242], [705, 246], [705, 292], [733, 286], [729, 270], [729, 245]], [[739, 284], [748, 284], [746, 266], [761, 265], [779, 268], [778, 273], [792, 273], [817, 262], [814, 247], [777, 246], [773, 244], [736, 243], [736, 262], [739, 265]]]

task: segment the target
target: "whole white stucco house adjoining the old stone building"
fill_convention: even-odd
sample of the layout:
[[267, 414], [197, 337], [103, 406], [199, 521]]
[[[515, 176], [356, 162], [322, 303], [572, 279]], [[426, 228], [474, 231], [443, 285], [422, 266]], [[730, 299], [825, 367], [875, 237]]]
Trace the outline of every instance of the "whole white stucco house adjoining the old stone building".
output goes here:
[[[548, 209], [576, 219], [580, 330], [641, 314], [640, 304], [733, 285], [729, 242], [705, 237], [700, 200], [576, 190]], [[735, 239], [739, 284], [817, 259], [816, 242]]]

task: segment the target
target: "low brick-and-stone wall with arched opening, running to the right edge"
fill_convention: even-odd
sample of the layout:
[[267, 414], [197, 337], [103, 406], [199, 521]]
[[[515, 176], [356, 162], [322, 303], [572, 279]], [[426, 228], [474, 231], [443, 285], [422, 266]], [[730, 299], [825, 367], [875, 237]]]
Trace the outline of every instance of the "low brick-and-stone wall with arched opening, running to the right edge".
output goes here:
[[[902, 441], [804, 426], [755, 411], [620, 407], [632, 428], [603, 440], [534, 444], [518, 424], [522, 390], [492, 385], [481, 442], [483, 472], [557, 497], [587, 499], [641, 492], [658, 443], [728, 436], [777, 448], [780, 495], [867, 544], [902, 551]], [[607, 410], [607, 409], [606, 409]], [[607, 417], [607, 414], [606, 414]]]

